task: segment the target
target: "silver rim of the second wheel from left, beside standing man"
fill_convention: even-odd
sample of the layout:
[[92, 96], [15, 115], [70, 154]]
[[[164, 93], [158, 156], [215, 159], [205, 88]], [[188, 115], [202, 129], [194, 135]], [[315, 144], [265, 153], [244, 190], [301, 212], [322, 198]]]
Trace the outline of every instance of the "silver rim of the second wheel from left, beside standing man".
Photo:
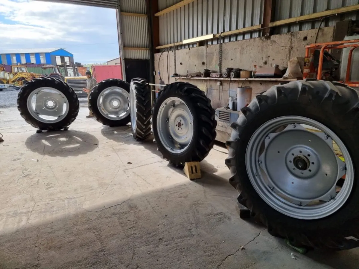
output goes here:
[[126, 118], [130, 114], [130, 94], [120, 87], [106, 88], [98, 96], [97, 107], [107, 119]]

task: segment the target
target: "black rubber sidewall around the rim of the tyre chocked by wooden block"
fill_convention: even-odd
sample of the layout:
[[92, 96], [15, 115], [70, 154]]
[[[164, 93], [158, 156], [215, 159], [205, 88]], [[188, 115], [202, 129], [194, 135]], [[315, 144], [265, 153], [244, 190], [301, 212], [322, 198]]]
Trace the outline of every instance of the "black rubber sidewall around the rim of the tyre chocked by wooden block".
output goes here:
[[[157, 115], [159, 112], [159, 108], [161, 107], [161, 105], [163, 104], [163, 102], [170, 97], [177, 97], [179, 99], [181, 99], [183, 101], [183, 103], [185, 103], [187, 105], [187, 107], [190, 109], [190, 112], [192, 114], [192, 118], [193, 118], [193, 137], [192, 140], [190, 142], [190, 144], [188, 145], [188, 147], [186, 148], [185, 151], [178, 153], [178, 154], [174, 154], [172, 152], [169, 152], [167, 150], [167, 148], [162, 145], [162, 142], [160, 141], [159, 135], [158, 135], [158, 128], [157, 128]], [[158, 150], [162, 153], [163, 157], [165, 159], [169, 159], [169, 160], [176, 160], [176, 163], [182, 163], [185, 164], [185, 162], [188, 161], [198, 161], [198, 160], [191, 160], [192, 159], [192, 152], [194, 150], [196, 150], [196, 142], [197, 142], [197, 137], [198, 137], [198, 128], [196, 128], [198, 126], [198, 115], [196, 114], [196, 110], [191, 102], [191, 99], [186, 96], [186, 95], [181, 95], [178, 93], [173, 93], [173, 91], [168, 91], [165, 94], [160, 94], [158, 99], [156, 100], [155, 103], [155, 107], [153, 110], [153, 115], [152, 115], [152, 121], [153, 121], [153, 135], [155, 138], [155, 141], [157, 142], [157, 146], [158, 146]]]

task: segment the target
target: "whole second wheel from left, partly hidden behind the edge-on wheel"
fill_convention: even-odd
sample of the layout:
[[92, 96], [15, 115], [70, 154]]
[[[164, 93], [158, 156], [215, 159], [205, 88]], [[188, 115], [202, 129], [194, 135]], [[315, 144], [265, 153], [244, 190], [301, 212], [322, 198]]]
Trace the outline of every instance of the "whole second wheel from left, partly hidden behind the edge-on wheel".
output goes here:
[[120, 79], [99, 82], [91, 91], [89, 109], [98, 122], [110, 127], [130, 122], [130, 84]]

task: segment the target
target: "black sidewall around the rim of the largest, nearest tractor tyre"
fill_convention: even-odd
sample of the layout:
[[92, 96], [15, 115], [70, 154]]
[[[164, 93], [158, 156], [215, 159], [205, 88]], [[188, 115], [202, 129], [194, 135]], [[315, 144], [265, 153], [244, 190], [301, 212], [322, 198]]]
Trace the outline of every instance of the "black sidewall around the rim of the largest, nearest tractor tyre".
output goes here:
[[[336, 114], [323, 110], [319, 105], [313, 104], [311, 102], [306, 103], [284, 103], [274, 106], [269, 106], [264, 110], [261, 110], [255, 115], [255, 120], [249, 120], [246, 123], [246, 128], [243, 128], [242, 132], [239, 133], [240, 139], [236, 144], [236, 162], [238, 164], [236, 167], [246, 167], [246, 149], [248, 142], [250, 141], [253, 133], [265, 122], [270, 119], [274, 119], [286, 115], [296, 115], [314, 119], [327, 127], [329, 127], [336, 135], [344, 142], [347, 147], [354, 164], [354, 171], [358, 171], [359, 167], [359, 154], [358, 147], [348, 147], [349, 145], [358, 145], [358, 142], [354, 139], [352, 130], [342, 129], [342, 121], [340, 117], [337, 117]], [[318, 220], [299, 220], [296, 218], [288, 217], [272, 207], [270, 207], [262, 198], [257, 194], [256, 190], [253, 188], [253, 185], [248, 177], [247, 173], [243, 171], [237, 171], [237, 174], [241, 181], [241, 187], [244, 190], [244, 193], [247, 193], [251, 197], [251, 202], [253, 207], [256, 207], [256, 210], [261, 212], [267, 219], [268, 226], [280, 226], [280, 227], [290, 227], [292, 229], [297, 229], [297, 231], [305, 231], [317, 233], [326, 233], [328, 229], [333, 229], [342, 227], [346, 222], [352, 220], [353, 218], [358, 218], [358, 203], [359, 203], [359, 188], [357, 184], [358, 175], [354, 174], [354, 185], [350, 197], [338, 211], [331, 214], [328, 217], [321, 218]], [[349, 224], [348, 224], [349, 225]], [[345, 231], [342, 230], [342, 234], [338, 236], [342, 239], [344, 237]], [[350, 235], [347, 235], [350, 236]]]

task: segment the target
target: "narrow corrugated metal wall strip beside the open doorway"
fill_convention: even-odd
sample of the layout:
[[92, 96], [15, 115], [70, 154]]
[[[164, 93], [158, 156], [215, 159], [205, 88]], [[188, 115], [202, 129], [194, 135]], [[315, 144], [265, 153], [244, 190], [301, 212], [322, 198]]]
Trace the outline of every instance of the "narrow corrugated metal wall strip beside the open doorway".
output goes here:
[[[121, 12], [146, 14], [145, 0], [121, 0]], [[147, 17], [121, 14], [122, 42], [126, 48], [148, 48]], [[125, 49], [125, 59], [149, 59], [148, 51]]]

